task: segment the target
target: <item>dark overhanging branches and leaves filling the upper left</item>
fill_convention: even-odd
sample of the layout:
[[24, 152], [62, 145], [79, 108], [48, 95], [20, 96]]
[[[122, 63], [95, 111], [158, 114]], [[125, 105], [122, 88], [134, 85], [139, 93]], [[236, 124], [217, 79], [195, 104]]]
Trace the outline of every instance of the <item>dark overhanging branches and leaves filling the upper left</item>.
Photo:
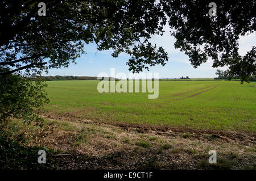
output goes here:
[[154, 0], [48, 1], [47, 16], [37, 14], [39, 2], [0, 2], [0, 65], [11, 67], [0, 74], [68, 66], [92, 42], [98, 50], [113, 49], [113, 57], [130, 54], [134, 72], [168, 60], [148, 41], [166, 22]]

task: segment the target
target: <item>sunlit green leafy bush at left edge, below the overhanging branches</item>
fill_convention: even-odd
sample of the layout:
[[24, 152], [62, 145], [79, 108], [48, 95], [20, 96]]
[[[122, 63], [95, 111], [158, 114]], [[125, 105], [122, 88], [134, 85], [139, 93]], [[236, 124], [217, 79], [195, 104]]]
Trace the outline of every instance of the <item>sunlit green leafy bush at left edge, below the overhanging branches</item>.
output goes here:
[[5, 127], [11, 117], [25, 123], [39, 121], [37, 111], [48, 102], [44, 84], [40, 80], [19, 75], [0, 76], [0, 126]]

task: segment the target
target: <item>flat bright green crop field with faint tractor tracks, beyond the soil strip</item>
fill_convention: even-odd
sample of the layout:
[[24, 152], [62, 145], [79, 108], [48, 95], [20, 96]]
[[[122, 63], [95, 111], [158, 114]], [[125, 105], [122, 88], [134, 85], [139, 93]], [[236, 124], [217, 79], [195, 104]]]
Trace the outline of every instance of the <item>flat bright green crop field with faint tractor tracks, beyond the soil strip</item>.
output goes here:
[[256, 132], [256, 82], [159, 81], [157, 99], [141, 92], [99, 93], [98, 82], [47, 82], [45, 110], [73, 119]]

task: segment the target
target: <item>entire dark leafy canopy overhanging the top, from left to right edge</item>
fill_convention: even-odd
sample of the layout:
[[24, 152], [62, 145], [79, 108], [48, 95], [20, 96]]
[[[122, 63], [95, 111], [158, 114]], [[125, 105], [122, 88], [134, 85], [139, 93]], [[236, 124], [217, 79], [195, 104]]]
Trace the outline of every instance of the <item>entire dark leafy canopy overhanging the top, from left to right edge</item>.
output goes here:
[[166, 51], [149, 40], [167, 22], [175, 48], [195, 68], [212, 58], [214, 68], [229, 66], [242, 81], [255, 74], [256, 48], [238, 53], [240, 36], [256, 30], [255, 1], [214, 1], [216, 16], [208, 14], [210, 1], [200, 0], [46, 1], [46, 16], [38, 15], [39, 2], [0, 2], [0, 66], [10, 68], [1, 75], [68, 66], [93, 42], [113, 57], [129, 54], [133, 72], [165, 65]]

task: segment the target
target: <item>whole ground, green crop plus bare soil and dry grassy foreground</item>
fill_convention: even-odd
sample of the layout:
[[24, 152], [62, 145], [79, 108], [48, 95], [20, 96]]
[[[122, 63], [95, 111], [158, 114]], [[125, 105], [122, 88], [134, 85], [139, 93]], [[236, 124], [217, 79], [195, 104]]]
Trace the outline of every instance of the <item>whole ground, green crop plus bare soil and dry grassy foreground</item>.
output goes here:
[[47, 148], [48, 169], [256, 169], [255, 82], [159, 81], [156, 99], [99, 93], [99, 82], [48, 81], [43, 127], [14, 119], [4, 132], [30, 158], [4, 142], [13, 155], [4, 167], [41, 167], [31, 162]]

